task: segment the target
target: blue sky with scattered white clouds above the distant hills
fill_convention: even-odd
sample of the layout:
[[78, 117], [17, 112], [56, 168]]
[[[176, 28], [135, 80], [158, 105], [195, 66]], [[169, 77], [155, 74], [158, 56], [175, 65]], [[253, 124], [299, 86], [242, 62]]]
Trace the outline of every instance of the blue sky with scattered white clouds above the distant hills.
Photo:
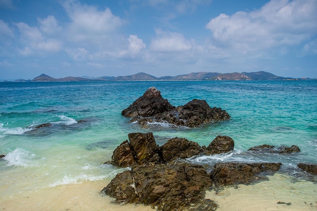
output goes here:
[[0, 80], [317, 78], [317, 0], [0, 0]]

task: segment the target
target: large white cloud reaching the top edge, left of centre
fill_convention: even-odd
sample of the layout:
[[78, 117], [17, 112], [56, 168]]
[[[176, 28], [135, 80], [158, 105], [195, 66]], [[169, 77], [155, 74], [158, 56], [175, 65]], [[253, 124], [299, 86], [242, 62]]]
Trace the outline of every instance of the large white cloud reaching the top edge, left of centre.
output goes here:
[[68, 35], [74, 41], [103, 39], [124, 23], [109, 8], [99, 11], [94, 6], [81, 5], [71, 0], [65, 1], [62, 6], [71, 19]]

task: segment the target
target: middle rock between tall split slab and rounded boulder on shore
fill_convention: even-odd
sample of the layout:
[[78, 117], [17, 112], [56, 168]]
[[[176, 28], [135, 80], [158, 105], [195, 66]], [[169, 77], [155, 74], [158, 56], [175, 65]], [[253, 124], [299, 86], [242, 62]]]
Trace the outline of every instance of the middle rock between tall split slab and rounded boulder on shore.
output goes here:
[[202, 147], [196, 142], [188, 141], [184, 138], [173, 138], [168, 140], [162, 147], [164, 162], [169, 162], [177, 158], [188, 158], [202, 153]]

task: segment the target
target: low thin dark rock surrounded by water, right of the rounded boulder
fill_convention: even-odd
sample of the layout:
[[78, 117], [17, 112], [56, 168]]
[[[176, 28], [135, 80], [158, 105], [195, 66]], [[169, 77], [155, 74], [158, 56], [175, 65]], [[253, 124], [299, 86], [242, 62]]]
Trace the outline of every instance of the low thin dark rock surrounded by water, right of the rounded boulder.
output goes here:
[[284, 145], [282, 145], [280, 147], [274, 147], [271, 145], [263, 144], [261, 146], [251, 147], [250, 149], [248, 149], [248, 151], [285, 154], [285, 153], [299, 152], [300, 149], [298, 146], [295, 146], [295, 145], [292, 145], [291, 147], [286, 147]]

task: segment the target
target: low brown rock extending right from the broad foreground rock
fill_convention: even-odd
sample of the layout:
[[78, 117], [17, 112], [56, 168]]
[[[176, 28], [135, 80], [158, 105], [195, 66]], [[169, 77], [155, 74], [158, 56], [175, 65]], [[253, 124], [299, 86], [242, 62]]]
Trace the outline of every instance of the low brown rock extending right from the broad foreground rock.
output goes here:
[[246, 184], [263, 171], [278, 171], [282, 163], [238, 163], [226, 162], [214, 165], [210, 177], [215, 185]]

